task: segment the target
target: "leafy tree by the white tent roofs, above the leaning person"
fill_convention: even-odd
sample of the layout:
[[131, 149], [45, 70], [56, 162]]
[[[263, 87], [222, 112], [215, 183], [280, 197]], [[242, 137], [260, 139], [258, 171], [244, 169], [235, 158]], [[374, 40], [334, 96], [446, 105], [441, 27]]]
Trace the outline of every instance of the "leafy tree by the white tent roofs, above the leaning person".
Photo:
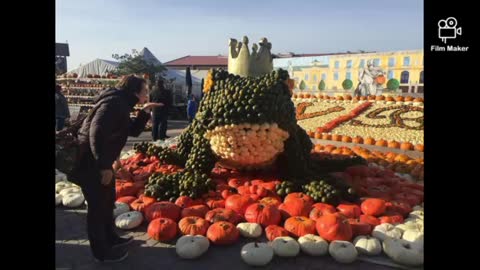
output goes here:
[[122, 76], [129, 74], [147, 74], [148, 79], [150, 79], [150, 83], [152, 84], [155, 83], [155, 75], [162, 77], [161, 73], [167, 70], [161, 64], [155, 65], [153, 63], [149, 63], [136, 50], [133, 50], [132, 54], [114, 54], [112, 55], [112, 58], [120, 62], [117, 69], [112, 72], [115, 75]]

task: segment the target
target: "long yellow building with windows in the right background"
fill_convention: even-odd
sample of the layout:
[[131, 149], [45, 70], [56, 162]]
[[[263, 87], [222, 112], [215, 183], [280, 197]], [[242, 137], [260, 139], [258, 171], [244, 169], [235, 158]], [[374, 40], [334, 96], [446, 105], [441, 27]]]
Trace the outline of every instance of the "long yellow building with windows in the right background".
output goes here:
[[[325, 82], [326, 90], [341, 90], [345, 79], [353, 82], [353, 89], [358, 85], [358, 76], [367, 61], [372, 60], [374, 66], [380, 67], [387, 81], [395, 78], [400, 82], [400, 88], [406, 92], [409, 86], [417, 86], [418, 92], [423, 92], [423, 50], [336, 54], [315, 57], [305, 57], [305, 61], [295, 58], [281, 59], [278, 67], [289, 69], [290, 75], [298, 87], [303, 81], [304, 91], [318, 90], [320, 80]], [[312, 60], [313, 59], [313, 60]], [[310, 62], [310, 63], [308, 63]], [[288, 63], [288, 64], [286, 64]], [[285, 65], [289, 65], [285, 67]], [[386, 87], [386, 84], [385, 84]]]

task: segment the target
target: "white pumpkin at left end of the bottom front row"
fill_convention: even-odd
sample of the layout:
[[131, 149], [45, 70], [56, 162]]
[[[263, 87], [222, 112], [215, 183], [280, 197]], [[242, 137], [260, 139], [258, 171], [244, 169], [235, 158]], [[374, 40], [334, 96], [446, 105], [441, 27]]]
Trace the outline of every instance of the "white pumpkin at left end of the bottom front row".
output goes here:
[[175, 249], [182, 259], [195, 259], [207, 252], [210, 247], [208, 238], [203, 235], [184, 235], [177, 240]]

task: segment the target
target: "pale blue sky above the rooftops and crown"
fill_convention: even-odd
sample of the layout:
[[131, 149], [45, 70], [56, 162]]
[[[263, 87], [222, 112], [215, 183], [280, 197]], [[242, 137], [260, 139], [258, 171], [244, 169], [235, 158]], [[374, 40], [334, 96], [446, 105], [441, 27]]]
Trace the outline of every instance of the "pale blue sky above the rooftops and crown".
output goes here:
[[55, 18], [69, 70], [143, 47], [161, 62], [226, 55], [244, 35], [274, 53], [423, 48], [421, 0], [56, 0]]

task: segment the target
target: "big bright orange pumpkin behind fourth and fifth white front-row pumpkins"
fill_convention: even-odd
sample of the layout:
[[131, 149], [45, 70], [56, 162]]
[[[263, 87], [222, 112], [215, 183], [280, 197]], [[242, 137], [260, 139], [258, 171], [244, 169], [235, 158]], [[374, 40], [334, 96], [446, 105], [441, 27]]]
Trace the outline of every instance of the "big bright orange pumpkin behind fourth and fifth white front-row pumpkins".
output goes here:
[[327, 214], [319, 217], [316, 222], [318, 235], [327, 241], [352, 239], [352, 227], [341, 214]]

